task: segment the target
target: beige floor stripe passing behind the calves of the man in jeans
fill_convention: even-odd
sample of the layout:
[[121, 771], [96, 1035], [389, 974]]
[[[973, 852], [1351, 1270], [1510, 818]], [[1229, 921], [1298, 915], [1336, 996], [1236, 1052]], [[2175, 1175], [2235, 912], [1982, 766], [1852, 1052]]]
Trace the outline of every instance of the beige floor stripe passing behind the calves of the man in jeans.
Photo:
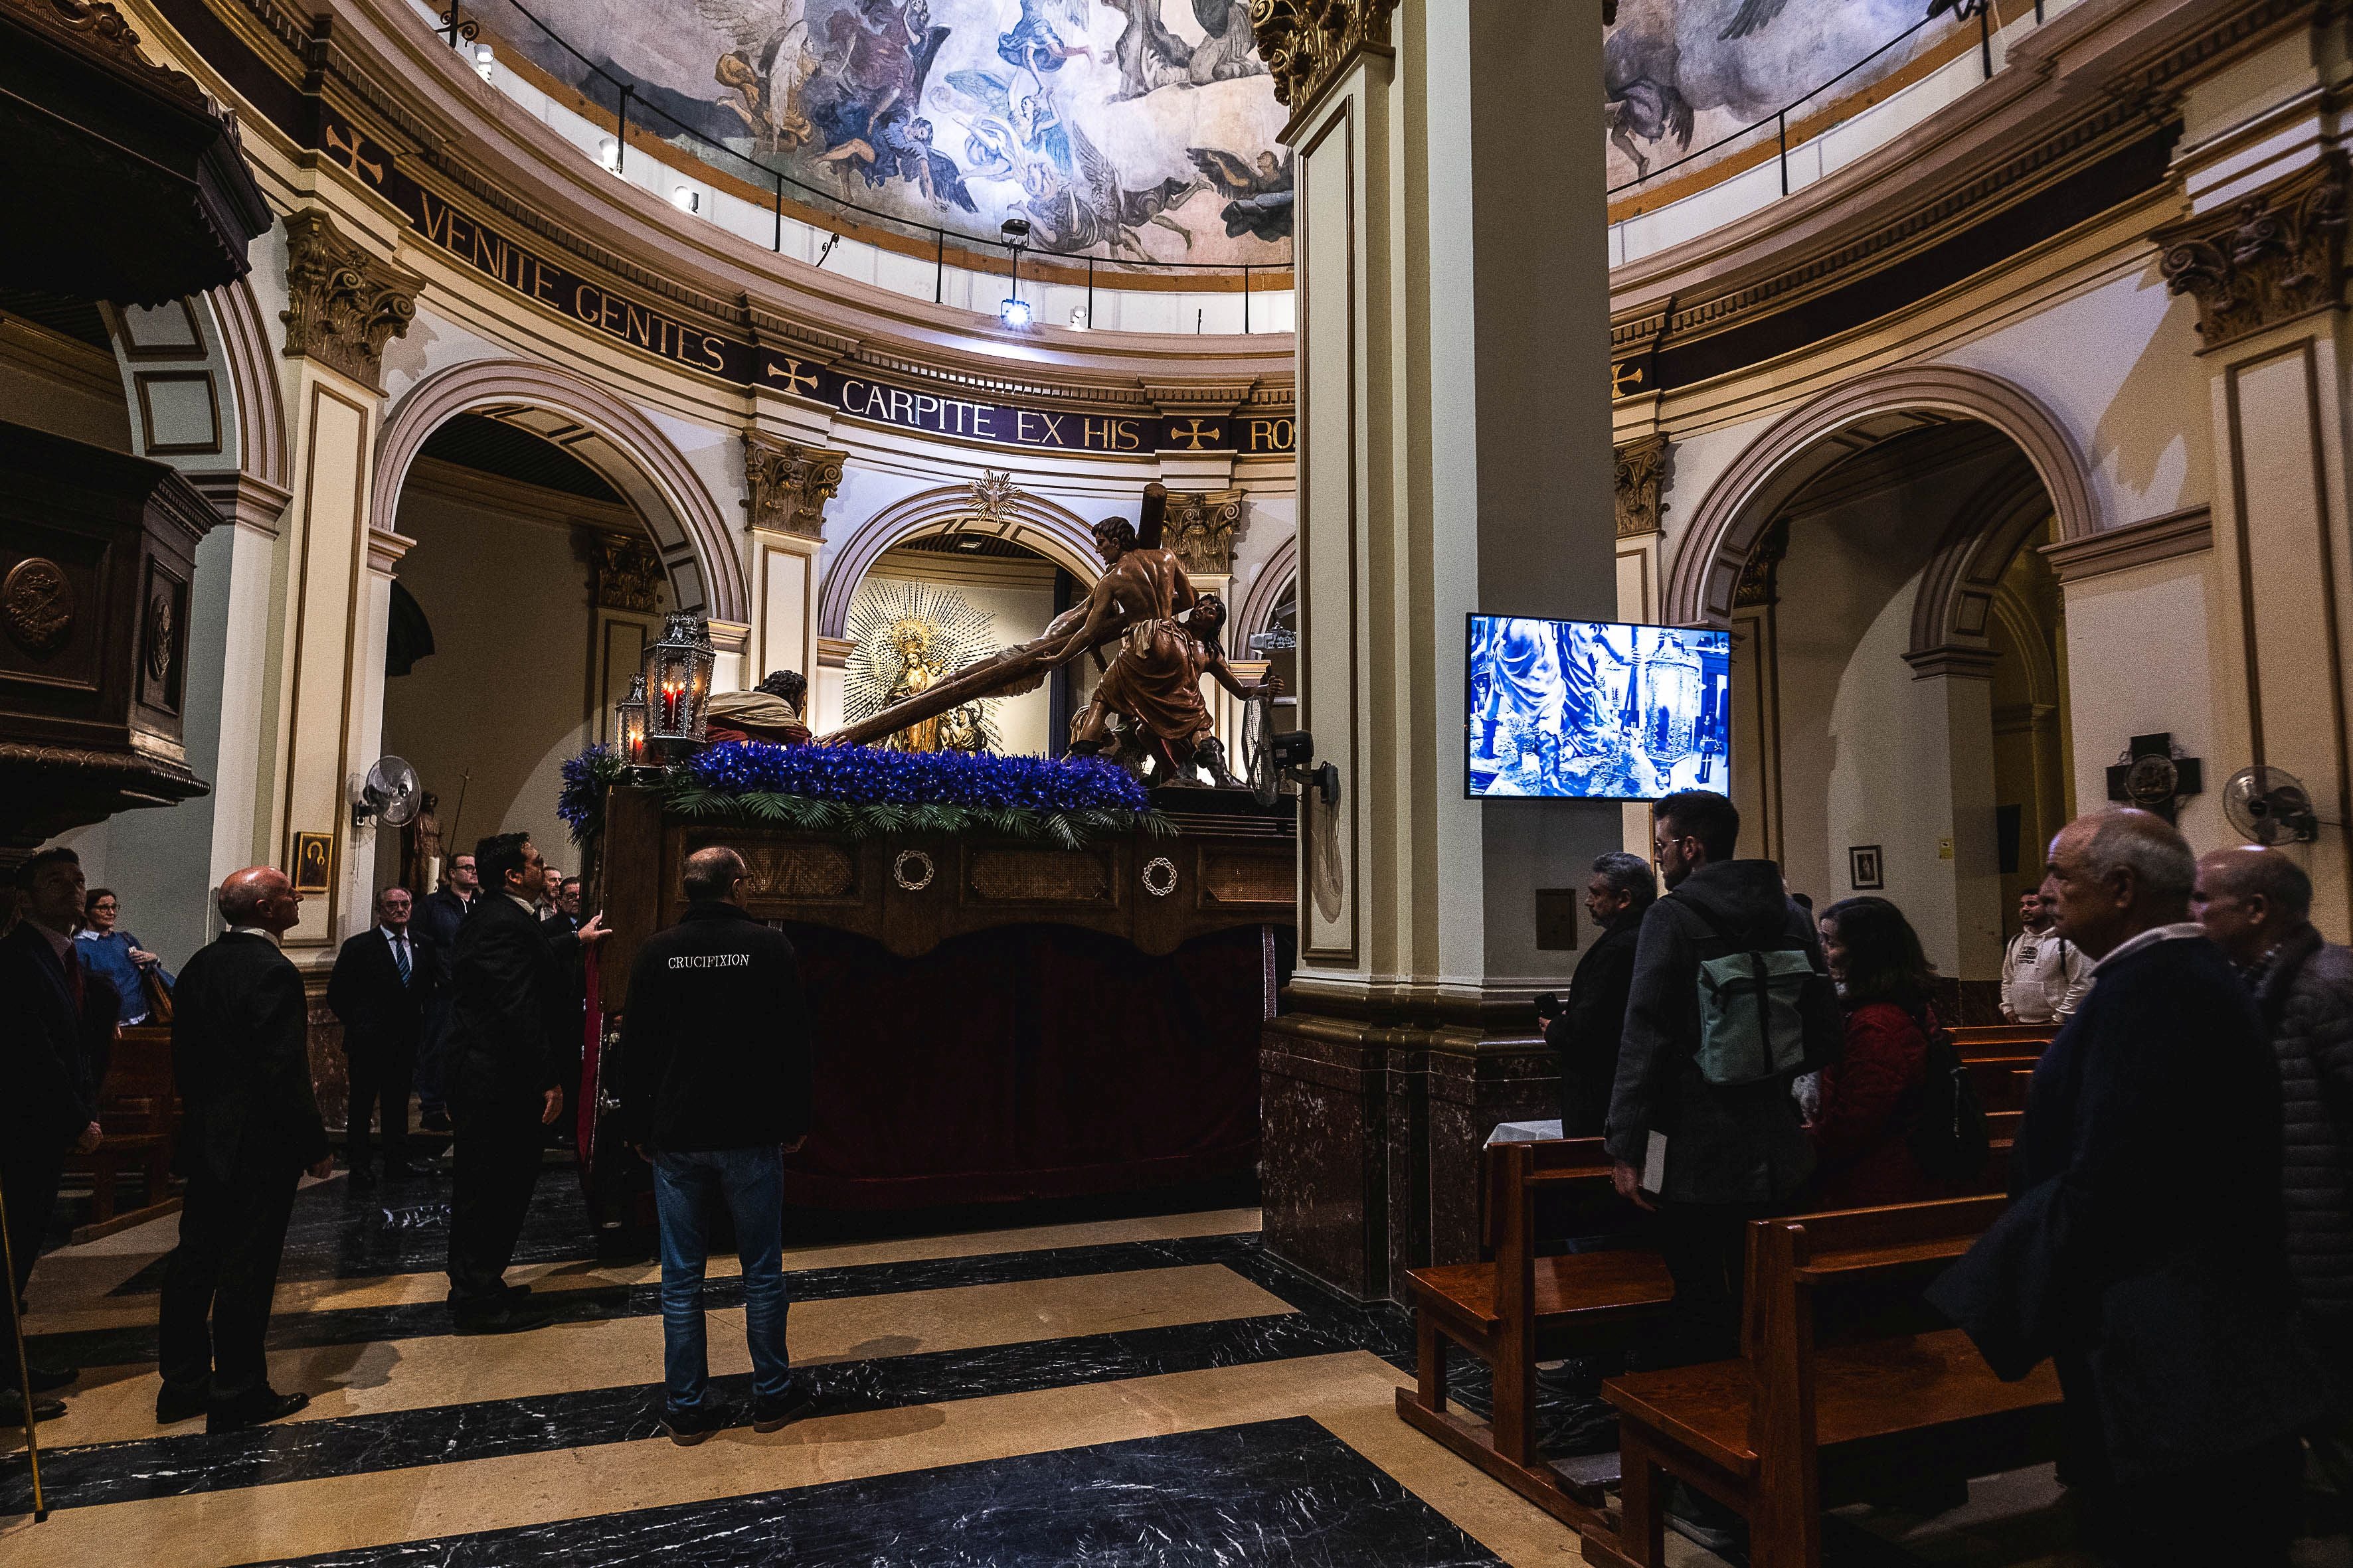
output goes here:
[[[800, 1302], [788, 1342], [798, 1366], [821, 1366], [1285, 1312], [1292, 1307], [1278, 1295], [1205, 1262]], [[741, 1307], [711, 1312], [706, 1331], [715, 1375], [751, 1371]], [[661, 1382], [661, 1319], [285, 1349], [271, 1354], [271, 1382], [311, 1394], [311, 1408], [292, 1420]], [[42, 1446], [155, 1436], [158, 1387], [153, 1366], [85, 1368], [66, 1415], [42, 1425]], [[195, 1429], [184, 1422], [165, 1432]]]

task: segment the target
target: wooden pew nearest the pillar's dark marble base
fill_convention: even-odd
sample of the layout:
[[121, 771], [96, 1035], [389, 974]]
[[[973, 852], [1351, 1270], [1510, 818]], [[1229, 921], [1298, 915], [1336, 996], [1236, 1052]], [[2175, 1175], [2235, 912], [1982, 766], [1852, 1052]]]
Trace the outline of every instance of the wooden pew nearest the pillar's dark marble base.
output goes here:
[[[1574, 1340], [1579, 1354], [1628, 1345], [1675, 1295], [1666, 1265], [1649, 1251], [1537, 1258], [1537, 1199], [1567, 1194], [1621, 1206], [1609, 1171], [1600, 1138], [1492, 1145], [1482, 1178], [1494, 1262], [1407, 1274], [1417, 1380], [1398, 1389], [1398, 1415], [1579, 1530], [1607, 1530], [1602, 1486], [1569, 1479], [1537, 1455], [1537, 1359], [1560, 1340]], [[1485, 1425], [1447, 1408], [1454, 1347], [1485, 1361], [1492, 1375], [1494, 1415]]]

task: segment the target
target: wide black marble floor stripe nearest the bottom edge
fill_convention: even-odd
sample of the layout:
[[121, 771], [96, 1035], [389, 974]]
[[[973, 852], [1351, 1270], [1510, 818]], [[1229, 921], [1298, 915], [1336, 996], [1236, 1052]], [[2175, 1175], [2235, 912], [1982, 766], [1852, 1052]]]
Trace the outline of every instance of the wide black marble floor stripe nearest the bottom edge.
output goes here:
[[301, 1568], [1487, 1568], [1499, 1561], [1308, 1418], [299, 1559]]

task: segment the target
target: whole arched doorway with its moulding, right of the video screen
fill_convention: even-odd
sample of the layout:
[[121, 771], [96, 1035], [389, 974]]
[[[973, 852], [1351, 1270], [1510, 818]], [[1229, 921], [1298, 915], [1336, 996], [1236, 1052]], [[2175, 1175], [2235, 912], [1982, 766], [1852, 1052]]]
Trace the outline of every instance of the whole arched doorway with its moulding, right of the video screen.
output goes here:
[[[1911, 376], [1882, 393], [1920, 393]], [[1847, 390], [1784, 421], [1701, 503], [1666, 616], [1734, 630], [1744, 853], [1817, 907], [1894, 900], [1969, 1018], [1993, 1011], [2017, 893], [2075, 806], [2038, 545], [2089, 524], [2057, 425], [1984, 393], [1873, 409]]]

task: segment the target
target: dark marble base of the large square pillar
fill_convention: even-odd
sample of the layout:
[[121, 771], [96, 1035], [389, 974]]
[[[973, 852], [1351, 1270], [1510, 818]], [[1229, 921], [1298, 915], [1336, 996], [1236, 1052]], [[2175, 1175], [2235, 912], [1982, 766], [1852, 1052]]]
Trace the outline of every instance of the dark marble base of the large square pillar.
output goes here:
[[1259, 1081], [1266, 1246], [1360, 1298], [1475, 1260], [1487, 1133], [1560, 1114], [1553, 1053], [1480, 1009], [1315, 997], [1266, 1025]]

